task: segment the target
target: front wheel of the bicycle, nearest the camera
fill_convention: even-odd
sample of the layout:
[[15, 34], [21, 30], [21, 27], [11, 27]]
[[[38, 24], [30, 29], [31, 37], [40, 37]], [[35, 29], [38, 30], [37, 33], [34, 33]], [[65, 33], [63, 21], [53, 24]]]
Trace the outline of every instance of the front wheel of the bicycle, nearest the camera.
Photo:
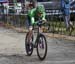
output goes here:
[[40, 60], [44, 60], [47, 55], [47, 41], [43, 34], [39, 34], [37, 38], [37, 56]]

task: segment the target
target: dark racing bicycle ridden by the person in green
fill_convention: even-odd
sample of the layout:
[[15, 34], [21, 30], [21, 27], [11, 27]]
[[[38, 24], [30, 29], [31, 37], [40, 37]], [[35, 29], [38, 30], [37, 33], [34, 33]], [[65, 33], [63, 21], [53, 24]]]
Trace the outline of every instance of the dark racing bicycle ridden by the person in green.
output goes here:
[[[29, 34], [29, 32], [28, 32], [26, 34], [26, 38], [25, 38], [25, 49], [26, 49], [27, 55], [31, 56], [33, 53], [33, 49], [36, 48], [38, 58], [40, 60], [44, 60], [46, 58], [46, 55], [47, 55], [47, 40], [46, 40], [46, 37], [44, 36], [44, 34], [40, 33], [40, 30], [39, 30], [39, 27], [43, 25], [42, 21], [39, 21], [37, 24], [38, 24], [37, 25], [38, 31], [37, 31], [37, 37], [34, 41], [34, 44], [33, 44], [34, 32], [32, 33], [32, 36], [30, 36], [31, 37], [30, 42], [28, 42], [28, 34]], [[34, 30], [34, 28], [33, 28], [33, 30]]]

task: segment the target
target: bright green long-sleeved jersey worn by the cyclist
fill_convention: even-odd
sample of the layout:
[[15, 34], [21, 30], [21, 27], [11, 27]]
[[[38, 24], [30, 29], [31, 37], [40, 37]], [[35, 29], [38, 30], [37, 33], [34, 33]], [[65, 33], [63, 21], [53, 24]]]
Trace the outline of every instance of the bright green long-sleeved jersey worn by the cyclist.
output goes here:
[[30, 18], [31, 24], [35, 24], [39, 18], [41, 18], [41, 20], [45, 20], [45, 11], [42, 12], [40, 16], [38, 16], [36, 8], [33, 8], [28, 11], [28, 17]]

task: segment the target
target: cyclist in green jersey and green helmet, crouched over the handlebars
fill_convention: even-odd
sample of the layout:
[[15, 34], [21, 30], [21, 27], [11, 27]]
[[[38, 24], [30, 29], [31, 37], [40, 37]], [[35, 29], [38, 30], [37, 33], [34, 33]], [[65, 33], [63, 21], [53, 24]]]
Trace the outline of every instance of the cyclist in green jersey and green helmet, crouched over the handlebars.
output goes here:
[[42, 21], [46, 21], [45, 19], [45, 8], [43, 5], [38, 5], [36, 8], [33, 8], [28, 11], [28, 24], [29, 24], [29, 35], [28, 38], [30, 40], [30, 36], [32, 36], [33, 25], [37, 25], [37, 21], [39, 18]]

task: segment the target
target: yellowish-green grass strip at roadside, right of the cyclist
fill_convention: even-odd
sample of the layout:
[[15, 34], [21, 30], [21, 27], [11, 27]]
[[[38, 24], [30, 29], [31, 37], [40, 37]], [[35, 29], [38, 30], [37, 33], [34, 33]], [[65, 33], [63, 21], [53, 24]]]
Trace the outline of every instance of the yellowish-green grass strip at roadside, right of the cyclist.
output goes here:
[[[63, 21], [53, 21], [53, 22], [49, 22], [49, 28], [52, 29], [52, 31], [54, 31], [54, 33], [60, 33], [60, 34], [65, 34], [65, 35], [69, 35], [70, 31], [66, 31], [66, 26], [65, 23]], [[48, 27], [48, 25], [45, 25]], [[73, 26], [75, 27], [75, 25]], [[45, 30], [47, 31], [47, 30]], [[75, 29], [71, 32], [71, 35], [75, 36]]]

